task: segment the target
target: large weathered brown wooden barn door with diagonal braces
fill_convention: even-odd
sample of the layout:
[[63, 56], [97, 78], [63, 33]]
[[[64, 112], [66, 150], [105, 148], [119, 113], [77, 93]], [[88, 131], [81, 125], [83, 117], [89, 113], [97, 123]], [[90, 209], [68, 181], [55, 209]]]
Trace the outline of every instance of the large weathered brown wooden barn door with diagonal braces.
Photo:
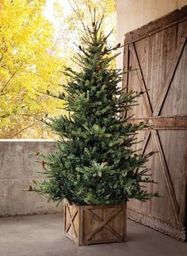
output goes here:
[[158, 151], [147, 163], [162, 198], [128, 203], [128, 217], [185, 239], [187, 173], [187, 6], [128, 32], [124, 39], [124, 86], [147, 91], [132, 109], [132, 122], [151, 124], [136, 147]]

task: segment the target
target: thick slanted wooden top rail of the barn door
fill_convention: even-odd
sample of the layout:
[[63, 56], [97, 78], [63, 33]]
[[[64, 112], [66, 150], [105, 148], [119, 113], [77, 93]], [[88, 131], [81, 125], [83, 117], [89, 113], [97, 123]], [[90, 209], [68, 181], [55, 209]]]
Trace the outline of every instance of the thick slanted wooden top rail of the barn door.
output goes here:
[[147, 25], [143, 25], [139, 29], [135, 29], [131, 32], [126, 33], [124, 38], [124, 44], [132, 44], [132, 42], [141, 40], [147, 36], [151, 36], [156, 32], [162, 31], [163, 29], [166, 29], [171, 25], [175, 25], [181, 21], [185, 21], [186, 19], [187, 6], [183, 6], [181, 10], [174, 10], [173, 12], [168, 13], [155, 21], [151, 21]]

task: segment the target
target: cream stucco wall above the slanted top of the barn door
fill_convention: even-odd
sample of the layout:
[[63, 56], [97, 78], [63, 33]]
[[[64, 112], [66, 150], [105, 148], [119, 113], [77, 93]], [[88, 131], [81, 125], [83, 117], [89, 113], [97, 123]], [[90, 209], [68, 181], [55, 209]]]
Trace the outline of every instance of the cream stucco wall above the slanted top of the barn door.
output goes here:
[[[187, 5], [187, 0], [117, 0], [117, 42], [123, 44], [126, 32], [138, 29], [158, 17]], [[123, 64], [123, 54], [117, 67]]]

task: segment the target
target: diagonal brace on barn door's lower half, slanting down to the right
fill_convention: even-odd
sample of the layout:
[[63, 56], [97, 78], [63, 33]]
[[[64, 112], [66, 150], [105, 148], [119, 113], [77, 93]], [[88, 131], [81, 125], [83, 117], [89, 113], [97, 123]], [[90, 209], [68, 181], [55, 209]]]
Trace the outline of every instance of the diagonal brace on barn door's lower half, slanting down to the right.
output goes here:
[[156, 130], [151, 130], [151, 135], [154, 138], [155, 141], [155, 146], [158, 149], [158, 156], [161, 162], [161, 166], [162, 166], [162, 173], [163, 173], [163, 177], [166, 181], [166, 188], [167, 188], [167, 192], [169, 193], [170, 196], [170, 202], [172, 204], [173, 210], [174, 210], [174, 216], [175, 219], [177, 221], [177, 224], [179, 223], [179, 208], [177, 205], [177, 198], [176, 195], [174, 193], [174, 187], [172, 185], [172, 181], [170, 178], [170, 171], [168, 170], [167, 164], [166, 164], [166, 159], [164, 157], [164, 152], [162, 150], [162, 145], [158, 136], [158, 132]]

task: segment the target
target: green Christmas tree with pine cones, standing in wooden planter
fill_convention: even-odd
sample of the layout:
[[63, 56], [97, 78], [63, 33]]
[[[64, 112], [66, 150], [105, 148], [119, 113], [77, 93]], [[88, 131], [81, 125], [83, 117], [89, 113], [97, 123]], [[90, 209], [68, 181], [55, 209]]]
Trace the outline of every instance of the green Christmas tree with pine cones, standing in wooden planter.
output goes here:
[[[110, 67], [116, 47], [109, 47], [108, 36], [93, 15], [92, 25], [84, 26], [85, 36], [74, 62], [79, 71], [66, 67], [68, 77], [63, 93], [67, 115], [48, 120], [59, 134], [55, 152], [42, 154], [47, 178], [37, 181], [32, 190], [53, 201], [75, 204], [124, 204], [130, 198], [146, 201], [143, 183], [154, 182], [145, 166], [152, 155], [133, 151], [136, 133], [144, 124], [131, 124], [126, 117], [142, 92], [125, 94], [118, 84], [123, 72]], [[113, 53], [114, 52], [114, 53]]]

